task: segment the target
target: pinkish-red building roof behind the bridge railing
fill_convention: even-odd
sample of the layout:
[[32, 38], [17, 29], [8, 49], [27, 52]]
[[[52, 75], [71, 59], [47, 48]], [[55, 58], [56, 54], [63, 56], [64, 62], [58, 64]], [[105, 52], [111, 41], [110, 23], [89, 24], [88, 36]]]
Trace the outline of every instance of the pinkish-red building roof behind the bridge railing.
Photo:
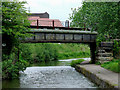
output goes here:
[[37, 20], [39, 26], [53, 26], [54, 20], [54, 27], [63, 27], [62, 23], [58, 19], [40, 18], [39, 16], [29, 16], [28, 20], [32, 21], [31, 26], [37, 26]]

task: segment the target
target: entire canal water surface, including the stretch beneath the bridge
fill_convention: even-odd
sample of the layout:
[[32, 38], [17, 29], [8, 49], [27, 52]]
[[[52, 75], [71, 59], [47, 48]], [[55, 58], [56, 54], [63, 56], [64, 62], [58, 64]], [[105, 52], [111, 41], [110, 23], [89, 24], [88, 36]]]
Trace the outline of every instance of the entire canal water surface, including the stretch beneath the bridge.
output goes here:
[[[27, 67], [19, 79], [4, 80], [3, 88], [97, 88], [70, 66], [76, 59], [59, 60]], [[89, 58], [85, 58], [89, 60]]]

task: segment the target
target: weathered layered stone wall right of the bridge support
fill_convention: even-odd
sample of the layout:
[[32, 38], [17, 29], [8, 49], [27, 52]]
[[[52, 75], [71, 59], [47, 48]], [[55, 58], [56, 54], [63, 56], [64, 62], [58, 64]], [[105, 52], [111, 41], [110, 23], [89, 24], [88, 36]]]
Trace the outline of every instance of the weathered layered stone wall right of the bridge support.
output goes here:
[[101, 42], [97, 47], [97, 62], [104, 63], [113, 59], [113, 42]]

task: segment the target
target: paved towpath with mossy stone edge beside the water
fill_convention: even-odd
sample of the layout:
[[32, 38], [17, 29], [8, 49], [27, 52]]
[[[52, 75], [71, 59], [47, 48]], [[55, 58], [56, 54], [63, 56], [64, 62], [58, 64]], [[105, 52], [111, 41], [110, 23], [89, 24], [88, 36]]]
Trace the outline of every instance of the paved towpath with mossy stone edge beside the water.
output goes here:
[[118, 73], [108, 71], [100, 65], [76, 65], [75, 69], [96, 83], [100, 88], [118, 89]]

